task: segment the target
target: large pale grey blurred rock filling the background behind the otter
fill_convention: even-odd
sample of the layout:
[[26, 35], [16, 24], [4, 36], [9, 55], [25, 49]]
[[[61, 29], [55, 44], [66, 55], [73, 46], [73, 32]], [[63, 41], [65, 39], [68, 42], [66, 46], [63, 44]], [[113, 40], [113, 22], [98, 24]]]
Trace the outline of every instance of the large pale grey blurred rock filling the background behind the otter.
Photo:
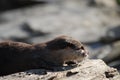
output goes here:
[[[86, 1], [65, 0], [61, 1], [62, 3], [59, 5], [50, 3], [8, 11], [1, 14], [2, 19], [7, 22], [0, 26], [9, 27], [9, 31], [13, 32], [15, 31], [13, 26], [18, 27], [19, 24], [27, 22], [34, 31], [50, 33], [48, 36], [42, 36], [43, 40], [41, 40], [41, 36], [29, 38], [28, 40], [32, 43], [49, 40], [62, 34], [73, 36], [81, 42], [98, 41], [105, 35], [109, 26], [120, 24], [120, 18], [118, 15], [111, 15], [111, 10], [106, 13], [99, 8], [88, 7], [85, 4]], [[0, 36], [4, 38], [4, 34], [0, 34]], [[9, 35], [9, 37], [11, 36]]]

